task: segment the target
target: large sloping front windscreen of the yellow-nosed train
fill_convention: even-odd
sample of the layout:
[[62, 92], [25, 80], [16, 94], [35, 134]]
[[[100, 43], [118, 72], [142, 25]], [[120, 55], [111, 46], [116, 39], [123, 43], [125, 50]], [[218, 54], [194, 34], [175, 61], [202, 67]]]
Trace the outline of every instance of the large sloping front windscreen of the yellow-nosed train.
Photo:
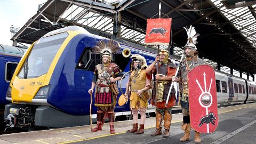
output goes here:
[[68, 33], [60, 33], [39, 39], [23, 63], [18, 77], [26, 79], [46, 74], [53, 58], [67, 36]]

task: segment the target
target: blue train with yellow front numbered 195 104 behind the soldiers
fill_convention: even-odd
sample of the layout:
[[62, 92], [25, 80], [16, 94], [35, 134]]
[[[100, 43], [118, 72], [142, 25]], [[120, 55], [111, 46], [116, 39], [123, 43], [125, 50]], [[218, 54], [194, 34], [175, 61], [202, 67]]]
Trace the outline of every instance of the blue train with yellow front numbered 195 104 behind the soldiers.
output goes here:
[[[19, 62], [6, 94], [6, 100], [12, 102], [5, 106], [4, 118], [7, 126], [26, 128], [31, 125], [67, 127], [89, 124], [91, 100], [87, 91], [91, 87], [95, 65], [101, 63], [100, 55], [92, 54], [91, 50], [103, 39], [108, 41], [104, 37], [90, 34], [84, 28], [70, 26], [51, 31], [32, 44]], [[155, 60], [156, 50], [122, 39], [116, 39], [116, 42], [120, 44], [121, 50], [130, 49], [132, 54], [143, 55], [148, 65]], [[178, 58], [171, 57], [178, 61]], [[130, 58], [114, 54], [113, 60], [124, 73], [129, 71]], [[254, 82], [250, 82], [249, 87], [249, 81], [242, 78], [218, 71], [215, 75], [217, 78], [221, 75], [221, 79], [217, 79], [218, 103], [233, 102], [235, 98], [235, 102], [242, 103], [248, 98], [250, 101], [256, 100]], [[233, 83], [227, 83], [225, 87], [226, 80], [231, 81], [230, 78], [233, 77], [240, 79], [239, 84], [245, 86], [241, 91], [245, 93], [242, 99], [239, 99], [240, 91], [237, 96], [231, 91], [234, 89]], [[123, 91], [127, 79], [128, 77], [122, 81]], [[237, 89], [240, 90], [240, 87]], [[92, 113], [95, 114], [96, 111], [96, 107], [93, 107]], [[129, 103], [124, 106], [117, 104], [115, 113], [130, 113]]]

